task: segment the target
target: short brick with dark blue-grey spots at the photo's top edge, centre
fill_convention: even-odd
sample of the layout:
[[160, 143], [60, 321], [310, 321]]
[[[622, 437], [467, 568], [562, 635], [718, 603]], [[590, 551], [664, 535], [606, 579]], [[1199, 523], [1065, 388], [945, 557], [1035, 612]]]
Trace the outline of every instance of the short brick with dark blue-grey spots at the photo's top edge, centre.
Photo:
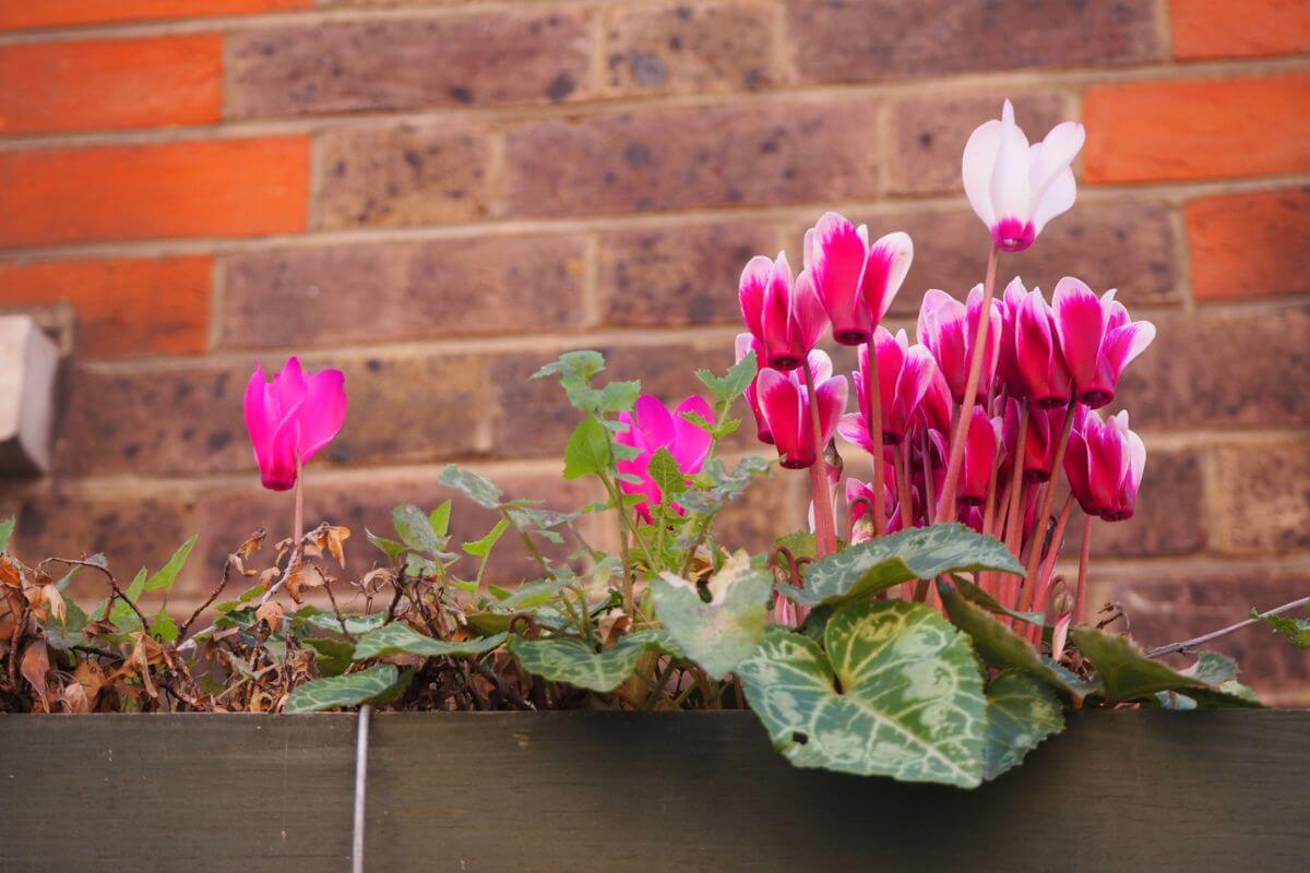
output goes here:
[[616, 9], [605, 27], [605, 93], [755, 90], [778, 80], [762, 3]]

